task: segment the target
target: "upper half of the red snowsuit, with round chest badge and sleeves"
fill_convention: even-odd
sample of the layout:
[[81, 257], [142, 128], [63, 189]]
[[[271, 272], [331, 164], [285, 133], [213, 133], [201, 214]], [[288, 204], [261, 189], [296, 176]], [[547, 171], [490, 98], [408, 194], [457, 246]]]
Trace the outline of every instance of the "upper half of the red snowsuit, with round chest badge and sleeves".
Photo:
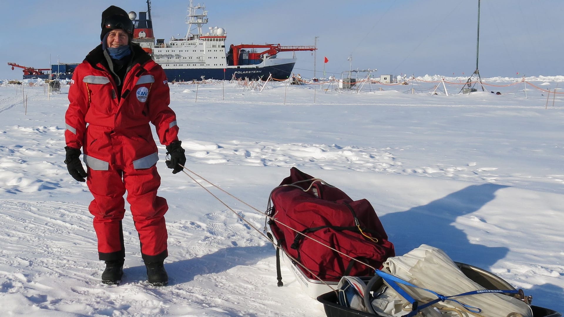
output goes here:
[[[158, 153], [149, 122], [155, 125], [161, 144], [178, 140], [165, 73], [139, 46], [132, 47], [134, 58], [122, 83], [121, 96], [117, 95], [117, 85], [108, 71], [101, 45], [74, 71], [65, 115], [65, 139], [69, 147], [83, 147], [85, 162], [90, 167], [94, 165], [89, 164], [89, 158], [94, 158], [91, 162], [101, 160], [108, 164], [118, 149], [124, 152], [119, 158], [125, 164], [147, 156], [151, 156], [151, 161], [156, 157], [156, 162]], [[120, 141], [119, 147], [116, 140]], [[147, 164], [140, 166], [144, 165]]]

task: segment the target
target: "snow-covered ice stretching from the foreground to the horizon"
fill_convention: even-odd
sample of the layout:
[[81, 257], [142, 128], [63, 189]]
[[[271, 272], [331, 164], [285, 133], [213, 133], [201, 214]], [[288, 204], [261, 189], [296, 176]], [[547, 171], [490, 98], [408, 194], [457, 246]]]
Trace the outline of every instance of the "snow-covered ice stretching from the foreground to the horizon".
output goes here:
[[[453, 84], [448, 96], [429, 94], [441, 78], [360, 93], [327, 84], [268, 83], [262, 92], [174, 84], [171, 107], [187, 168], [254, 208], [265, 210], [272, 188], [297, 166], [371, 201], [397, 254], [437, 246], [523, 288], [535, 305], [564, 311], [563, 98], [504, 86], [521, 78], [484, 79], [501, 95], [457, 94]], [[564, 77], [527, 81], [548, 90]], [[22, 95], [4, 82], [1, 315], [325, 316], [287, 268], [284, 287], [276, 286], [269, 241], [199, 184], [257, 228], [264, 216], [201, 179], [171, 174], [160, 145], [170, 285], [147, 284], [129, 213], [122, 285], [100, 283], [91, 195], [63, 163], [68, 86], [48, 96], [26, 83]]]

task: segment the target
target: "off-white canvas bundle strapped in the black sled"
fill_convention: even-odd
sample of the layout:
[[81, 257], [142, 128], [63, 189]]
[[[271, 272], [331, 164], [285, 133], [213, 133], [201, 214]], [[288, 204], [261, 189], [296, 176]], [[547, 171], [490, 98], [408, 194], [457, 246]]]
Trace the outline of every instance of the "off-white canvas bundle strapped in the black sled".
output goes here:
[[[481, 290], [483, 287], [467, 278], [456, 264], [440, 249], [422, 244], [403, 256], [391, 257], [384, 262], [384, 272], [407, 281], [420, 288], [433, 290], [444, 296], [453, 296]], [[386, 283], [386, 282], [385, 282]], [[418, 303], [427, 303], [437, 299], [426, 290], [398, 284]], [[479, 312], [471, 312], [475, 307]], [[374, 310], [383, 316], [403, 316], [411, 311], [409, 302], [391, 287], [372, 302]], [[532, 317], [531, 307], [517, 298], [498, 293], [479, 293], [468, 296], [453, 297], [452, 300], [437, 302], [422, 310], [428, 317]]]

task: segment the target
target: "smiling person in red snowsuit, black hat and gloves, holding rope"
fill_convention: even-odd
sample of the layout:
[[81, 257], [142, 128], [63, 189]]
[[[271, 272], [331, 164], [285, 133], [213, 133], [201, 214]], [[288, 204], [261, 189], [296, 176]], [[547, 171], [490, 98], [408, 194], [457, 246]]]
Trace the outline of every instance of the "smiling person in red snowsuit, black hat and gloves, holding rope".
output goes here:
[[[102, 44], [78, 65], [71, 81], [65, 115], [65, 164], [74, 179], [84, 182], [86, 177], [94, 196], [89, 210], [94, 215], [99, 258], [106, 264], [102, 281], [119, 284], [123, 275], [121, 221], [127, 191], [148, 281], [166, 285], [164, 214], [168, 205], [157, 196], [161, 182], [156, 168], [158, 150], [149, 122], [166, 146], [170, 156], [166, 165], [173, 173], [182, 170], [186, 156], [177, 137], [176, 115], [169, 108], [165, 73], [150, 55], [131, 43], [132, 37], [133, 22], [127, 13], [108, 7], [102, 13]], [[87, 172], [79, 158], [80, 148]]]

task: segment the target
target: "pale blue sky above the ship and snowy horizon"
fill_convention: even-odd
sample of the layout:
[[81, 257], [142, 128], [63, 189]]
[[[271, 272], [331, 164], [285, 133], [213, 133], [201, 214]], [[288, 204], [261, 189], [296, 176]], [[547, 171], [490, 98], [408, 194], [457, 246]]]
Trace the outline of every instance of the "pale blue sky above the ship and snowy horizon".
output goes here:
[[[352, 68], [378, 74], [469, 76], [476, 65], [477, 0], [206, 1], [209, 27], [227, 31], [227, 44], [313, 45], [317, 76]], [[110, 5], [146, 11], [143, 0], [3, 0], [0, 78], [21, 78], [7, 62], [36, 68], [78, 63], [99, 44], [100, 16]], [[186, 34], [187, 0], [153, 1], [157, 38]], [[482, 77], [564, 74], [564, 1], [482, 0]], [[291, 53], [286, 53], [291, 55]], [[294, 72], [312, 77], [314, 56], [297, 52]], [[282, 57], [282, 56], [281, 56]], [[519, 74], [517, 74], [519, 73]]]

